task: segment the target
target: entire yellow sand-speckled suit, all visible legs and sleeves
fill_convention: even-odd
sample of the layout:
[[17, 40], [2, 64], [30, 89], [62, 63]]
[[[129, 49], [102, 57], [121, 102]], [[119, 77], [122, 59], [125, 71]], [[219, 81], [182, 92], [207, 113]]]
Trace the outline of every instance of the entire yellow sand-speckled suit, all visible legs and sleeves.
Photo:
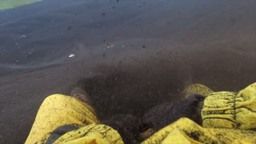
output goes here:
[[[203, 85], [197, 86], [201, 87], [201, 91], [209, 90]], [[199, 87], [194, 85], [194, 88], [198, 90]], [[142, 143], [256, 143], [256, 132], [246, 130], [256, 128], [256, 83], [239, 93], [212, 93], [208, 90], [211, 94], [205, 99], [202, 110], [203, 127], [206, 128], [188, 118], [181, 118]], [[195, 91], [187, 92], [205, 95]], [[55, 129], [68, 124], [80, 128], [62, 135], [55, 143], [124, 143], [118, 131], [97, 124], [99, 121], [94, 113], [89, 105], [73, 97], [51, 95], [40, 106], [26, 143], [45, 143]]]

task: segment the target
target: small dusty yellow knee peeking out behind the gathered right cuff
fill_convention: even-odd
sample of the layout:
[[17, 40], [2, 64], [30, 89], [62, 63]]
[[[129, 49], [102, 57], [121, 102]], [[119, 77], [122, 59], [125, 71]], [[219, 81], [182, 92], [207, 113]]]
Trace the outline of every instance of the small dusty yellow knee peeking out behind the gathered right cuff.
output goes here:
[[208, 94], [213, 93], [212, 89], [201, 84], [193, 84], [185, 88], [184, 91], [180, 94], [182, 100], [187, 99], [190, 94], [201, 94], [207, 96]]

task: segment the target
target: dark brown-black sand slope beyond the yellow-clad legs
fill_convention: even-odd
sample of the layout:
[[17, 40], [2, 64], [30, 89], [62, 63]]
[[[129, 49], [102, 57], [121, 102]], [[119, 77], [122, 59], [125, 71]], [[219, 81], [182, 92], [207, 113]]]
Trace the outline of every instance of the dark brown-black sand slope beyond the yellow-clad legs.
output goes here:
[[255, 7], [45, 0], [0, 11], [0, 143], [24, 143], [42, 101], [81, 79], [101, 119], [141, 116], [193, 83], [245, 88], [256, 81]]

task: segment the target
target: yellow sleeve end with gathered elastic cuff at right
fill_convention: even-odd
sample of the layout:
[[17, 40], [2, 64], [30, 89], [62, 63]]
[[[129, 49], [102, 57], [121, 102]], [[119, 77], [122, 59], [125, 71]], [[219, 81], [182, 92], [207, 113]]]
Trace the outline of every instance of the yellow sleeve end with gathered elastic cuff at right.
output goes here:
[[256, 83], [239, 93], [216, 92], [208, 95], [202, 109], [203, 127], [256, 128]]

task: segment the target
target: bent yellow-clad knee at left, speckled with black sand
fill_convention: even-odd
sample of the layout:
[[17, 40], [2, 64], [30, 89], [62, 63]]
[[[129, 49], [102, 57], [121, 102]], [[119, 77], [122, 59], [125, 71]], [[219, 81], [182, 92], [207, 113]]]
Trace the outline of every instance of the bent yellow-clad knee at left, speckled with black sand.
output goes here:
[[84, 127], [93, 123], [99, 120], [89, 105], [67, 95], [50, 95], [40, 106], [25, 143], [45, 143], [50, 134], [63, 125]]

